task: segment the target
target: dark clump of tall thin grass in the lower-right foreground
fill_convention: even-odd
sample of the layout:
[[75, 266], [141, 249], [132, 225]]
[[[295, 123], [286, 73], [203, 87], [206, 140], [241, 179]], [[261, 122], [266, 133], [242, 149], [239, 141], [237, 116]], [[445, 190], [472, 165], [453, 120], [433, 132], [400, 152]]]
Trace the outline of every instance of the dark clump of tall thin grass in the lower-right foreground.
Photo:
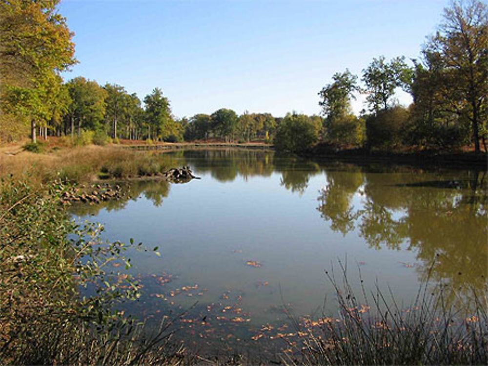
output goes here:
[[[474, 308], [466, 310], [448, 302], [445, 287], [432, 290], [428, 280], [419, 288], [411, 306], [403, 308], [391, 289], [378, 286], [355, 294], [341, 265], [342, 281], [326, 273], [335, 289], [339, 318], [297, 321], [305, 335], [292, 347], [286, 364], [308, 365], [486, 365], [488, 315], [484, 293], [472, 291]], [[340, 284], [342, 282], [342, 284]], [[488, 287], [485, 288], [487, 290]]]

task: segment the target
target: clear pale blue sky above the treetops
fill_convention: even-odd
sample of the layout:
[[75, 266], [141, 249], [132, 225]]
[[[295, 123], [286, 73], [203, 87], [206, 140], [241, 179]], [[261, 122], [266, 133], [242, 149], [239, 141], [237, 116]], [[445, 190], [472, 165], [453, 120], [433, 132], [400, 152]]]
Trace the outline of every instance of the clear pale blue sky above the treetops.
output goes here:
[[[62, 0], [83, 76], [141, 100], [163, 90], [175, 116], [319, 114], [336, 72], [373, 57], [418, 58], [447, 0]], [[361, 97], [357, 113], [366, 106]], [[399, 94], [408, 104], [410, 99]]]

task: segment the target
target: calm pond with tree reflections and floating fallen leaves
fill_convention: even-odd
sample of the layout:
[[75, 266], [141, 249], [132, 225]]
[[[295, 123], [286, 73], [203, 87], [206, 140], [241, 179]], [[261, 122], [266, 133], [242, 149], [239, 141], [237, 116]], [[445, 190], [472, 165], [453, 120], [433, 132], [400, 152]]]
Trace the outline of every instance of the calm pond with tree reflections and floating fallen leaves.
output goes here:
[[391, 290], [405, 308], [427, 277], [463, 307], [486, 285], [486, 172], [260, 150], [164, 154], [201, 179], [132, 182], [130, 199], [73, 214], [102, 223], [110, 240], [159, 247], [161, 257], [129, 253], [143, 288], [126, 311], [155, 323], [181, 315], [179, 334], [196, 344], [252, 344], [286, 334], [290, 314], [335, 316], [325, 271], [340, 282], [341, 265], [353, 290]]

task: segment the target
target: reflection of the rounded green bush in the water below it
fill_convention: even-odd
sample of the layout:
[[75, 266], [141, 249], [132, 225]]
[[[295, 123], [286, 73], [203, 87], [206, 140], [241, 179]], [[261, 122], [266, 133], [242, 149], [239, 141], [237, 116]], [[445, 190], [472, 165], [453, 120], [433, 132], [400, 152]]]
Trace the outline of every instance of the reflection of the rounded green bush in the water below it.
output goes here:
[[296, 156], [276, 156], [275, 170], [281, 173], [280, 184], [291, 192], [303, 194], [310, 178], [322, 170], [317, 163]]

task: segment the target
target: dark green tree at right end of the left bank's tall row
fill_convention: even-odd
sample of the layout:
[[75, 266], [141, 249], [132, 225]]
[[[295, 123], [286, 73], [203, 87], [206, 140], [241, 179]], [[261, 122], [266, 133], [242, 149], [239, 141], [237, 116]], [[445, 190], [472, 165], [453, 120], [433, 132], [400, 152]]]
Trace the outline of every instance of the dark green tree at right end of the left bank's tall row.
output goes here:
[[168, 98], [163, 96], [163, 91], [154, 88], [152, 93], [144, 98], [145, 119], [148, 124], [148, 137], [151, 136], [151, 127], [153, 135], [156, 138], [165, 138], [174, 135], [175, 124], [171, 117]]

